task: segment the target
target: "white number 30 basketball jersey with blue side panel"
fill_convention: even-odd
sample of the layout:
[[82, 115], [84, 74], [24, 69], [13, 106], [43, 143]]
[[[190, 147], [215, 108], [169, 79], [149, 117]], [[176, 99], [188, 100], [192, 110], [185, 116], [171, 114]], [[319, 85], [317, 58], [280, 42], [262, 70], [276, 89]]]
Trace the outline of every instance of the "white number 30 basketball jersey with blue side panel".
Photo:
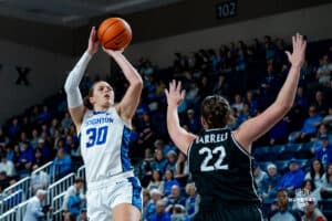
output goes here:
[[133, 169], [128, 158], [131, 128], [115, 107], [106, 112], [87, 110], [79, 137], [87, 182]]

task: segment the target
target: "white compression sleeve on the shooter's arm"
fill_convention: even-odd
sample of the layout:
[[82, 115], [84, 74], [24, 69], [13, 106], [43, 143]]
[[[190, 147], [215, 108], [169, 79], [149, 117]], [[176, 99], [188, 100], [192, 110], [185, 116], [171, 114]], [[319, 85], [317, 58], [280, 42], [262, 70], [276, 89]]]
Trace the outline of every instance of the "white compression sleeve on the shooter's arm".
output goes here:
[[68, 106], [70, 108], [74, 108], [83, 105], [83, 99], [82, 99], [79, 85], [91, 57], [92, 56], [87, 52], [85, 52], [83, 56], [80, 59], [80, 61], [77, 62], [77, 64], [74, 66], [74, 69], [71, 71], [69, 76], [66, 77], [64, 84], [64, 91], [66, 93]]

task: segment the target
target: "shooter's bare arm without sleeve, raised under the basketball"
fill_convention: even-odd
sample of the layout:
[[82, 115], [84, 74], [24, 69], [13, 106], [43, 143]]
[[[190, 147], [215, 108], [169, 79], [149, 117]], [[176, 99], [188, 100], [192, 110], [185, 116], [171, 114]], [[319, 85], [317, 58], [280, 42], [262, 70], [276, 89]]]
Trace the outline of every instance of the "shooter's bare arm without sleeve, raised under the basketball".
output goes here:
[[143, 80], [136, 69], [122, 54], [122, 51], [113, 51], [107, 49], [104, 49], [104, 51], [115, 60], [123, 71], [126, 80], [129, 82], [129, 87], [127, 88], [120, 104], [116, 106], [116, 110], [121, 118], [126, 124], [131, 125], [132, 118], [139, 103]]

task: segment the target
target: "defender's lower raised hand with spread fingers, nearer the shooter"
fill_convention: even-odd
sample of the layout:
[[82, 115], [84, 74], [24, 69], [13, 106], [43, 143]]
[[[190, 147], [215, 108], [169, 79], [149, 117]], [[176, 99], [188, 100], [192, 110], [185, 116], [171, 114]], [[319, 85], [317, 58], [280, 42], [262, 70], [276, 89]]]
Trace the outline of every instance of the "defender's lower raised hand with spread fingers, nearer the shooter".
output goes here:
[[186, 91], [181, 90], [181, 82], [173, 80], [169, 82], [169, 90], [165, 90], [168, 106], [178, 106], [184, 99]]

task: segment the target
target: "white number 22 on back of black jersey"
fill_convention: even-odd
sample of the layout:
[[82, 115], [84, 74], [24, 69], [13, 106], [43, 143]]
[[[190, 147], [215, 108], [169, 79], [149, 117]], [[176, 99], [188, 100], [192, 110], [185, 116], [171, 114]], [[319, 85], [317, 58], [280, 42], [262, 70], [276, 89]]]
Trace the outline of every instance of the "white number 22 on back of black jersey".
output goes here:
[[[200, 171], [208, 172], [214, 170], [226, 170], [228, 165], [222, 165], [226, 157], [226, 150], [224, 146], [216, 147], [214, 150], [207, 147], [203, 147], [199, 155], [206, 155], [205, 159], [200, 164]], [[217, 157], [217, 160], [214, 160]], [[215, 164], [212, 164], [215, 161]], [[212, 165], [211, 165], [212, 164]]]

